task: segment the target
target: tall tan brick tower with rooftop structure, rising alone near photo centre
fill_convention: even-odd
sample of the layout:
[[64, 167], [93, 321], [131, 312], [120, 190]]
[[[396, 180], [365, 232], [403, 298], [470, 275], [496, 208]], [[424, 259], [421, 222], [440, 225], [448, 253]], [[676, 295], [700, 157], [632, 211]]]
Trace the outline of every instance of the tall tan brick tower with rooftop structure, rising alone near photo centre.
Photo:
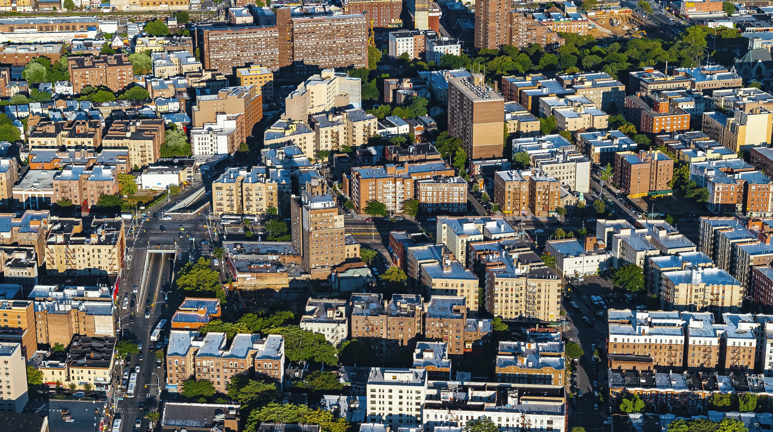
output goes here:
[[[290, 202], [293, 246], [308, 272], [327, 271], [346, 260], [343, 216], [330, 194], [312, 196], [302, 191]], [[320, 237], [324, 240], [318, 240]]]

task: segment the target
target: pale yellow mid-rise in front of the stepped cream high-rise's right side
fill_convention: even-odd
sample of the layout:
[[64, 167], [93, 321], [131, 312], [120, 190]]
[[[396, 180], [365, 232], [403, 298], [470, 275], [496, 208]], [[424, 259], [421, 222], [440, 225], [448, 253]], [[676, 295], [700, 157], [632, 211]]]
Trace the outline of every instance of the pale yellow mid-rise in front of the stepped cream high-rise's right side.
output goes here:
[[317, 151], [334, 151], [344, 146], [359, 147], [366, 145], [368, 138], [376, 134], [378, 119], [366, 113], [362, 108], [328, 112], [311, 117], [314, 128], [314, 158]]

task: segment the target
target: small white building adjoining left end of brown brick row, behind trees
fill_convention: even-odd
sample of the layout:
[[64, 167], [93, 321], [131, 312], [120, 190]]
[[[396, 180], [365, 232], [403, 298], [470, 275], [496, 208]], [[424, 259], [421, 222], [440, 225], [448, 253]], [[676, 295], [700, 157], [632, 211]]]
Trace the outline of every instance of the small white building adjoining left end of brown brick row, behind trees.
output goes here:
[[301, 317], [301, 328], [324, 335], [333, 346], [339, 346], [349, 338], [347, 303], [346, 300], [309, 298]]

